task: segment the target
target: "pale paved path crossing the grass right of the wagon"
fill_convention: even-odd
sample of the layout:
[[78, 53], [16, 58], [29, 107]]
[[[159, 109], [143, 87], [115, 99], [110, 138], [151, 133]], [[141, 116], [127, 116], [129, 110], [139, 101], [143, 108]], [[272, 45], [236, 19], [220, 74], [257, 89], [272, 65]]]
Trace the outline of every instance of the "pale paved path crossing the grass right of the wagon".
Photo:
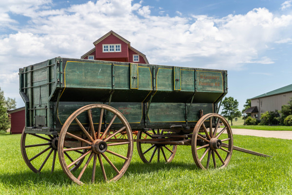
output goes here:
[[292, 139], [292, 131], [264, 131], [252, 129], [232, 129], [234, 135], [274, 137], [280, 139]]

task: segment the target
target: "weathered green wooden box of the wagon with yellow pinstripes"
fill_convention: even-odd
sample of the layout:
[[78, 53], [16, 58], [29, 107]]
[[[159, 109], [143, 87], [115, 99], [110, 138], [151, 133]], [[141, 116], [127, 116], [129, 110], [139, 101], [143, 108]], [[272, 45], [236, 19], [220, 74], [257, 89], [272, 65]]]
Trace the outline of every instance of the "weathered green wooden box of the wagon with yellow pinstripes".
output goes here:
[[[59, 131], [78, 108], [109, 101], [132, 129], [193, 127], [199, 110], [216, 112], [216, 103], [227, 93], [227, 72], [222, 70], [84, 59], [55, 58], [30, 65], [19, 70], [19, 79], [26, 126], [40, 132]], [[79, 117], [88, 128], [87, 114]], [[98, 119], [99, 112], [93, 111], [94, 125]], [[114, 127], [119, 126], [116, 121]]]

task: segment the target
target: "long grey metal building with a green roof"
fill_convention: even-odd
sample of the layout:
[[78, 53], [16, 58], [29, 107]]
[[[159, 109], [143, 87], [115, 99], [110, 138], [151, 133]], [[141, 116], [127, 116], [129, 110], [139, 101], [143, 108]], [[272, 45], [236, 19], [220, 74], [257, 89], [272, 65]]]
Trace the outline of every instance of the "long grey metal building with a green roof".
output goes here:
[[292, 84], [251, 98], [251, 106], [256, 107], [258, 111], [258, 113], [253, 113], [253, 115], [259, 120], [262, 113], [281, 110], [282, 105], [288, 104], [291, 98]]

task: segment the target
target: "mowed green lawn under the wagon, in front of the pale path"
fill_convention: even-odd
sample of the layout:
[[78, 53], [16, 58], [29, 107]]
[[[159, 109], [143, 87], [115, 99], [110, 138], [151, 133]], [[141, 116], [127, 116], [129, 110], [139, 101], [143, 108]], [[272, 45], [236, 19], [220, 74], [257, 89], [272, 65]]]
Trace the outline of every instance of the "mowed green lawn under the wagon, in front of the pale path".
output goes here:
[[292, 140], [234, 135], [234, 145], [273, 157], [234, 151], [226, 168], [201, 170], [190, 146], [179, 146], [169, 164], [147, 165], [134, 145], [132, 161], [120, 180], [79, 186], [63, 173], [58, 161], [52, 174], [49, 167], [42, 174], [33, 173], [22, 159], [20, 135], [4, 135], [0, 136], [0, 194], [292, 194]]

